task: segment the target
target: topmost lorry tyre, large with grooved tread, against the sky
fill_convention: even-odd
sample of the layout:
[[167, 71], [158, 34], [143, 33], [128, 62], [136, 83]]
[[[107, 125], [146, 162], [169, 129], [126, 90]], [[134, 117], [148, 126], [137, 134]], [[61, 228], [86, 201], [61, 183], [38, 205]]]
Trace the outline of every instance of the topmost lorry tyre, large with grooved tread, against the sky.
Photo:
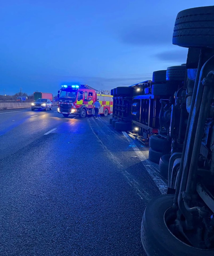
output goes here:
[[172, 43], [188, 48], [214, 48], [214, 6], [180, 11], [175, 20]]

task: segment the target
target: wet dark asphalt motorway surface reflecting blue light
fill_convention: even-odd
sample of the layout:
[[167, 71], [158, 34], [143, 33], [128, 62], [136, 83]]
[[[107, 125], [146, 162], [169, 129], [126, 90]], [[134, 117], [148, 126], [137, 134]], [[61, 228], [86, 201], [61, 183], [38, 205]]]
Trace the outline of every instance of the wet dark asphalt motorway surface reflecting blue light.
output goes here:
[[74, 117], [0, 111], [0, 255], [146, 255], [157, 166], [109, 117]]

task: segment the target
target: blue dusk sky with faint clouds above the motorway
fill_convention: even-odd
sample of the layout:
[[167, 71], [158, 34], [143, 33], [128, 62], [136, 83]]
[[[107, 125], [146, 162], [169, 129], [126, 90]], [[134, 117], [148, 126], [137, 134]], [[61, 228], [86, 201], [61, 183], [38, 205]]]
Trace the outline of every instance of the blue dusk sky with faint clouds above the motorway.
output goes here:
[[50, 92], [62, 84], [110, 90], [186, 63], [172, 45], [179, 11], [205, 0], [8, 0], [0, 7], [0, 94]]

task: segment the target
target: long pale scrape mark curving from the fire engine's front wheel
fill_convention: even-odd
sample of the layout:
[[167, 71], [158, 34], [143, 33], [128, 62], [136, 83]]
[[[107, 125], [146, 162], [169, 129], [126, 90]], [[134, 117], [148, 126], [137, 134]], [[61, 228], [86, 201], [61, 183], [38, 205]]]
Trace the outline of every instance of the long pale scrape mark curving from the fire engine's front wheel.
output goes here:
[[102, 141], [99, 139], [96, 132], [94, 131], [94, 128], [88, 118], [87, 118], [87, 121], [89, 123], [89, 126], [90, 126], [93, 134], [96, 136], [98, 142], [100, 143], [100, 145], [102, 146], [104, 151], [106, 151], [106, 153], [107, 153], [106, 155], [109, 155], [111, 157], [112, 161], [117, 165], [118, 170], [120, 170], [121, 173], [124, 175], [124, 177], [127, 179], [128, 184], [136, 190], [136, 193], [142, 200], [146, 199], [147, 201], [150, 201], [151, 198], [150, 198], [149, 194], [145, 190], [141, 189], [141, 186], [139, 185], [139, 183], [137, 181], [135, 181], [135, 179], [132, 177], [132, 175], [125, 170], [125, 167], [120, 163], [120, 161], [102, 143]]

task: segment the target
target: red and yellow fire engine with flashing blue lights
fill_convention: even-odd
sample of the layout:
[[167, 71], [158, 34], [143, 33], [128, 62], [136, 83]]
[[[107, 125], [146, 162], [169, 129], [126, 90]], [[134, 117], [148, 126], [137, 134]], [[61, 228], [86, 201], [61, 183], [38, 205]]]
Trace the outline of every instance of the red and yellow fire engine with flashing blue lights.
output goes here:
[[86, 115], [93, 115], [93, 104], [97, 99], [100, 102], [99, 114], [105, 117], [112, 113], [113, 96], [110, 91], [96, 90], [88, 85], [62, 85], [58, 91], [57, 112], [68, 117], [70, 114], [79, 115], [84, 118]]

